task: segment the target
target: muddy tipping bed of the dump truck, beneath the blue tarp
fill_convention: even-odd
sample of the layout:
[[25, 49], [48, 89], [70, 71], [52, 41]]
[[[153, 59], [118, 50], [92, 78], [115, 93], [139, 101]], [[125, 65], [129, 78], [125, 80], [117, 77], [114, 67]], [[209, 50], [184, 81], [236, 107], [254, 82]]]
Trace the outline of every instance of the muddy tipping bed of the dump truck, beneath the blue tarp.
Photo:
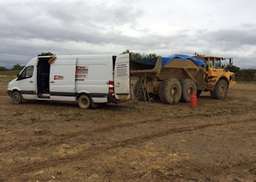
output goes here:
[[[163, 66], [164, 65], [164, 66]], [[149, 79], [166, 80], [176, 78], [178, 80], [192, 79], [198, 89], [204, 89], [204, 68], [197, 66], [193, 60], [173, 58], [168, 63], [162, 63], [162, 57], [131, 60], [131, 76], [146, 76]]]

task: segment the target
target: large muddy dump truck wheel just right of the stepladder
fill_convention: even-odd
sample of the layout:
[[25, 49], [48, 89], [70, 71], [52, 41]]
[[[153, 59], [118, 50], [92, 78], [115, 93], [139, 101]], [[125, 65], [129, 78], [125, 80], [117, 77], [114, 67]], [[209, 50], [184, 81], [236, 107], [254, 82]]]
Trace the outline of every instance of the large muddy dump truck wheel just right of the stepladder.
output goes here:
[[163, 103], [178, 103], [181, 99], [181, 92], [181, 82], [178, 79], [168, 79], [159, 87], [159, 98]]

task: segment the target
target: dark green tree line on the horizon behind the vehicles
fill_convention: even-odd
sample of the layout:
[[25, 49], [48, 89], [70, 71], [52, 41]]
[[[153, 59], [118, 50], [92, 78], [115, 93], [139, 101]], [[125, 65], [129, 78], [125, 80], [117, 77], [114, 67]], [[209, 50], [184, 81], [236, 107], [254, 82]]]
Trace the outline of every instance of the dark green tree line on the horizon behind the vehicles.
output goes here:
[[[157, 58], [158, 55], [156, 54], [140, 54], [139, 52], [130, 52], [129, 50], [126, 50], [122, 52], [122, 54], [129, 53], [129, 59], [130, 60], [141, 60], [141, 59], [147, 59], [147, 58]], [[42, 52], [41, 54], [38, 54], [38, 56], [45, 56], [45, 55], [53, 55], [51, 52]], [[0, 66], [0, 71], [8, 71], [8, 70], [22, 70], [24, 66], [20, 66], [19, 64], [14, 65], [11, 69], [7, 69], [3, 66]], [[236, 80], [238, 81], [255, 81], [256, 80], [256, 69], [241, 69], [237, 66], [233, 65], [227, 65], [225, 68], [226, 71], [231, 71], [236, 74]]]

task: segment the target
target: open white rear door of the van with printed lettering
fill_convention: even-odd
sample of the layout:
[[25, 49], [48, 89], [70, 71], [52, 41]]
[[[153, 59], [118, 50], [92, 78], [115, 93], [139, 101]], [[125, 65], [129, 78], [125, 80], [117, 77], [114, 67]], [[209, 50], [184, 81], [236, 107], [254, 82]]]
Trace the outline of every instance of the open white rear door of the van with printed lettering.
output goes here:
[[116, 56], [114, 71], [114, 88], [116, 99], [129, 99], [129, 54]]

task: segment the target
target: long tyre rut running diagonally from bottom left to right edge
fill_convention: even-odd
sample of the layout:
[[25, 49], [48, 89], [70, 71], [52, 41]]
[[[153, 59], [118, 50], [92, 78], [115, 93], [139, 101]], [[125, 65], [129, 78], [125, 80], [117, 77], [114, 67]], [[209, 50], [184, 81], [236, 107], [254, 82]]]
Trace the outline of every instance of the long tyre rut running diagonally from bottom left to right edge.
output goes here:
[[46, 159], [43, 162], [31, 162], [30, 164], [26, 165], [18, 165], [16, 164], [14, 167], [12, 167], [12, 170], [5, 171], [4, 173], [8, 175], [9, 173], [20, 173], [23, 175], [26, 175], [26, 172], [31, 173], [37, 170], [42, 170], [43, 168], [48, 168], [48, 167], [56, 167], [62, 163], [68, 163], [68, 162], [74, 162], [75, 160], [80, 160], [80, 159], [90, 159], [91, 157], [95, 157], [99, 154], [102, 154], [104, 152], [108, 152], [111, 149], [117, 149], [118, 147], [129, 147], [129, 146], [134, 146], [137, 143], [143, 143], [146, 141], [151, 141], [152, 139], [155, 138], [161, 138], [166, 135], [173, 135], [176, 133], [181, 133], [181, 132], [190, 132], [194, 130], [203, 130], [208, 127], [220, 127], [228, 124], [241, 124], [241, 123], [246, 123], [246, 122], [254, 122], [254, 119], [244, 119], [240, 121], [233, 121], [233, 122], [221, 122], [221, 123], [214, 123], [214, 124], [202, 124], [198, 126], [191, 126], [191, 127], [179, 127], [179, 128], [170, 128], [169, 130], [165, 130], [163, 132], [157, 132], [152, 135], [143, 135], [143, 136], [138, 136], [135, 138], [129, 138], [124, 141], [116, 141], [113, 143], [106, 143], [104, 146], [95, 146], [91, 147], [90, 149], [82, 150], [79, 151], [76, 154], [69, 154], [65, 157], [49, 157], [50, 159]]

